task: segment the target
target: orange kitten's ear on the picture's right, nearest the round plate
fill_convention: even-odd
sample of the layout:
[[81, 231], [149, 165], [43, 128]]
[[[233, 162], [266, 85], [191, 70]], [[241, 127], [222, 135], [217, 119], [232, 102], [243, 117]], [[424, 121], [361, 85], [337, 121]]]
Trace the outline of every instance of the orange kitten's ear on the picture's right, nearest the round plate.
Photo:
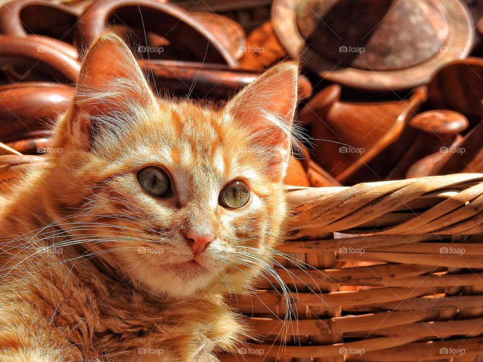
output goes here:
[[249, 129], [251, 144], [264, 152], [268, 175], [274, 181], [285, 176], [290, 156], [297, 79], [296, 63], [278, 64], [247, 85], [225, 108]]

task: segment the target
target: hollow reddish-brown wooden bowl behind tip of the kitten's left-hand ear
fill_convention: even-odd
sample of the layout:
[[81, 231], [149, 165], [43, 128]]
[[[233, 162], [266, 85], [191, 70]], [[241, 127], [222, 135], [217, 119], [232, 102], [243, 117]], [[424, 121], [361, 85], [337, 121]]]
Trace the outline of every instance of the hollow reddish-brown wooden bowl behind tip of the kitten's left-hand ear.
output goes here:
[[240, 44], [245, 43], [245, 34], [235, 24], [220, 26], [223, 21], [220, 18], [214, 23], [213, 17], [192, 16], [174, 4], [154, 0], [95, 1], [85, 9], [81, 19], [77, 25], [81, 48], [87, 48], [109, 24], [140, 58], [199, 60], [234, 66], [241, 56]]

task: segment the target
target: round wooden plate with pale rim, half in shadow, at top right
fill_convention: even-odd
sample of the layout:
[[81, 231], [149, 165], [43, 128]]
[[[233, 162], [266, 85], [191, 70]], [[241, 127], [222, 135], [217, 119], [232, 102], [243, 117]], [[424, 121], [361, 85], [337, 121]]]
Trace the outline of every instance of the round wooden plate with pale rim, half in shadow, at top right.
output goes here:
[[376, 90], [427, 83], [474, 40], [458, 0], [275, 0], [272, 23], [288, 53], [321, 77]]

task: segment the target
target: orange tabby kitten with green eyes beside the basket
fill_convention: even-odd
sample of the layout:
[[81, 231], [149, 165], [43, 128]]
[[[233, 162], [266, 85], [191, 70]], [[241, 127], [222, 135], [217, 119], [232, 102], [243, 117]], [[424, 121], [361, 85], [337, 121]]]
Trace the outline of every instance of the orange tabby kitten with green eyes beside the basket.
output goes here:
[[101, 35], [55, 126], [59, 152], [0, 199], [0, 361], [233, 350], [245, 332], [222, 296], [280, 239], [296, 89], [282, 63], [221, 110], [158, 100]]

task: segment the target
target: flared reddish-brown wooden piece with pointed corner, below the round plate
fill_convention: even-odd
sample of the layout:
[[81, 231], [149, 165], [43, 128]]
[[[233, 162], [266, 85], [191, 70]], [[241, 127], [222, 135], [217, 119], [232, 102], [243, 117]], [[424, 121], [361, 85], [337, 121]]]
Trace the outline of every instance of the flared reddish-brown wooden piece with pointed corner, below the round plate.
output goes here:
[[397, 158], [385, 162], [382, 151], [403, 135], [425, 100], [425, 88], [415, 89], [408, 101], [374, 104], [342, 102], [341, 92], [339, 85], [327, 87], [299, 114], [310, 125], [314, 160], [343, 184], [383, 179]]

